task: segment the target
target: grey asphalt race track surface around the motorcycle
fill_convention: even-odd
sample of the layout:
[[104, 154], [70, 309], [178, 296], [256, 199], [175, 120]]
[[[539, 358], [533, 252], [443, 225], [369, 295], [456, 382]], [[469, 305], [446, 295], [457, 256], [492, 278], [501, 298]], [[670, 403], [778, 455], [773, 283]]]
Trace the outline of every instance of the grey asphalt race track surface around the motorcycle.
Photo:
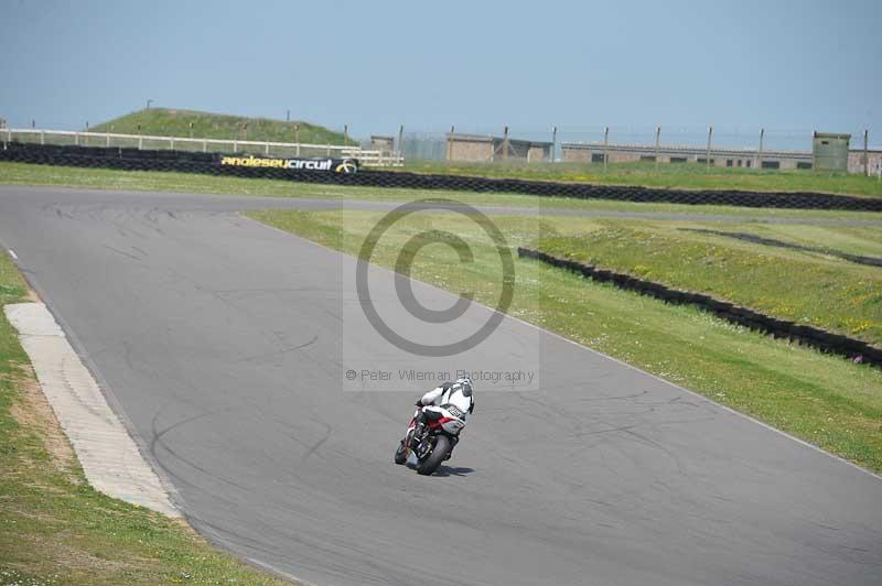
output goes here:
[[513, 319], [473, 358], [538, 344], [542, 390], [478, 389], [441, 476], [394, 466], [420, 389], [341, 391], [352, 260], [249, 207], [0, 188], [0, 240], [215, 542], [323, 585], [882, 583], [878, 477]]

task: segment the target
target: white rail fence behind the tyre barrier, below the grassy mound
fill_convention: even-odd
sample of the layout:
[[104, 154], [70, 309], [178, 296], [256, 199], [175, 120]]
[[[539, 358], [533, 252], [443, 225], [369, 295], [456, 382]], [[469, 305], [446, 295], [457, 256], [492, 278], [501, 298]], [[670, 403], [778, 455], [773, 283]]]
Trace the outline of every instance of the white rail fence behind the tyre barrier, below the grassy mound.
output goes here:
[[262, 154], [265, 156], [352, 156], [358, 159], [365, 166], [401, 166], [404, 164], [404, 158], [398, 152], [370, 151], [361, 146], [342, 144], [192, 139], [185, 137], [153, 137], [149, 134], [117, 134], [114, 132], [78, 132], [31, 128], [4, 128], [0, 130], [0, 138], [4, 142], [18, 141], [77, 146], [122, 146], [150, 150]]

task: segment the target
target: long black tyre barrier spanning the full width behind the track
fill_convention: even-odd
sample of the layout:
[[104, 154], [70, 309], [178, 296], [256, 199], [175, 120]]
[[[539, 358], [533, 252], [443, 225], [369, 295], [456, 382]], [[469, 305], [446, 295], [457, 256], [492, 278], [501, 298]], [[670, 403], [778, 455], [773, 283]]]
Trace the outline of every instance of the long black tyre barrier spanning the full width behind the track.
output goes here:
[[658, 189], [634, 186], [493, 180], [459, 175], [423, 175], [391, 171], [363, 171], [357, 174], [322, 173], [279, 169], [222, 166], [218, 162], [220, 156], [219, 153], [189, 151], [53, 146], [15, 142], [6, 143], [3, 149], [0, 150], [0, 160], [49, 165], [108, 167], [128, 171], [178, 171], [211, 175], [235, 175], [240, 177], [270, 177], [305, 183], [359, 185], [366, 187], [517, 193], [580, 199], [614, 199], [620, 202], [882, 211], [882, 198], [874, 199], [822, 193]]

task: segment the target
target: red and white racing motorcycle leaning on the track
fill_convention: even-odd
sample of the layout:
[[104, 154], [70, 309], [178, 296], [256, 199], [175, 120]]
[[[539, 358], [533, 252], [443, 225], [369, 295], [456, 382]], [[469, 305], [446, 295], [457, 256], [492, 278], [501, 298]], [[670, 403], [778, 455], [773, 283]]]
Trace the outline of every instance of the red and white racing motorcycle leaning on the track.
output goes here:
[[[413, 455], [417, 460], [417, 473], [431, 476], [438, 470], [441, 463], [450, 457], [451, 451], [460, 442], [460, 433], [465, 427], [465, 413], [453, 404], [441, 405], [438, 409], [441, 411], [441, 416], [434, 421], [427, 420], [422, 430], [417, 430], [420, 408], [417, 409], [404, 440], [395, 451], [396, 464], [405, 464]], [[415, 443], [413, 436], [418, 433], [417, 447], [411, 449], [410, 446]]]

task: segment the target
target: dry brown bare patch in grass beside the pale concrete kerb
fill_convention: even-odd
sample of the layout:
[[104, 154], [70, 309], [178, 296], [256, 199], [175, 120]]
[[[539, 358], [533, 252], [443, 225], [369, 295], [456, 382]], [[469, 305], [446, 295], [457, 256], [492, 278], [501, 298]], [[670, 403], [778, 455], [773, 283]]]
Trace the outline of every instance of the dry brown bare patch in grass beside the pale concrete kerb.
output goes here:
[[19, 365], [22, 373], [12, 379], [12, 384], [20, 391], [19, 400], [12, 402], [10, 412], [15, 421], [26, 430], [33, 431], [43, 442], [52, 466], [65, 473], [71, 481], [79, 484], [79, 478], [71, 474], [77, 464], [76, 455], [67, 436], [64, 435], [55, 412], [36, 382], [30, 365]]

